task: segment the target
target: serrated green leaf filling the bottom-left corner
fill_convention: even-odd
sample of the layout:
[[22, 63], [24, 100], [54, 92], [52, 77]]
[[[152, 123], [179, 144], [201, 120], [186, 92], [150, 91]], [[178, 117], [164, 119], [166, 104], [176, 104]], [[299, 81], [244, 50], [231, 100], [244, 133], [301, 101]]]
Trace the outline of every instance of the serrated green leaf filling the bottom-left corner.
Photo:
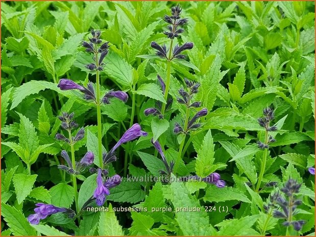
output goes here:
[[12, 233], [16, 236], [36, 236], [35, 229], [30, 225], [28, 220], [23, 216], [20, 210], [15, 209], [5, 203], [1, 203], [1, 215], [7, 222]]

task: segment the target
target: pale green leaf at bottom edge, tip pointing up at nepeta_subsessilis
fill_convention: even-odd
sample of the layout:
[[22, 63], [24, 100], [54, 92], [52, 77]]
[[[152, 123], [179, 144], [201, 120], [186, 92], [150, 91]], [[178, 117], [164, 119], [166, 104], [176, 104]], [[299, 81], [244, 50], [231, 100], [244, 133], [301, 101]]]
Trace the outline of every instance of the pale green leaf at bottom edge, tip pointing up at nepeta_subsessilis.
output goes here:
[[122, 227], [113, 212], [112, 204], [109, 204], [108, 212], [101, 212], [99, 219], [99, 235], [100, 236], [123, 236]]

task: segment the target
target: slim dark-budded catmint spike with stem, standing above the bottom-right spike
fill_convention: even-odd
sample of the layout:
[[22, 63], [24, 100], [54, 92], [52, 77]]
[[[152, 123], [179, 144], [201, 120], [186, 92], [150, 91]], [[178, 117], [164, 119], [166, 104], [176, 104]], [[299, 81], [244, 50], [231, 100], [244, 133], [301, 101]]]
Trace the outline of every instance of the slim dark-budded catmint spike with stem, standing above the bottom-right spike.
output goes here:
[[258, 147], [263, 149], [263, 155], [262, 155], [262, 163], [261, 163], [261, 169], [258, 177], [257, 182], [257, 188], [256, 191], [258, 192], [260, 189], [262, 177], [265, 170], [265, 164], [266, 164], [266, 156], [268, 155], [268, 149], [269, 149], [269, 143], [276, 142], [276, 140], [269, 135], [269, 131], [276, 131], [276, 126], [270, 126], [270, 123], [274, 119], [274, 110], [270, 107], [263, 109], [263, 115], [264, 117], [258, 118], [258, 123], [261, 127], [264, 127], [265, 135], [264, 135], [264, 142], [258, 141]]

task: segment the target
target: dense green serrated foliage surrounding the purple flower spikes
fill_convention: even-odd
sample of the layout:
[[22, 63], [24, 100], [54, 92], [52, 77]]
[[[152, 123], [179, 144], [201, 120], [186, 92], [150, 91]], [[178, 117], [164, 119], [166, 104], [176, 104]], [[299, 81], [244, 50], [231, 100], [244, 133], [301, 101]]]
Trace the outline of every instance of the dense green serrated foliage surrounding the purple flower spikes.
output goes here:
[[[151, 41], [169, 44], [162, 34], [166, 23], [161, 17], [176, 4], [2, 2], [2, 235], [285, 235], [284, 220], [268, 219], [263, 209], [277, 187], [263, 186], [259, 193], [253, 189], [263, 153], [255, 143], [264, 137], [256, 119], [271, 104], [278, 130], [273, 133], [276, 142], [269, 149], [263, 183], [276, 181], [281, 187], [289, 177], [303, 183], [298, 195], [303, 204], [296, 218], [307, 223], [297, 234], [314, 235], [314, 176], [307, 171], [314, 166], [315, 153], [314, 3], [181, 2], [182, 16], [189, 23], [176, 41], [193, 42], [193, 49], [185, 54], [196, 68], [172, 64], [174, 102], [162, 120], [167, 122], [161, 124], [143, 111], [155, 100], [164, 101], [156, 78], [157, 73], [166, 78], [166, 63], [137, 56], [154, 54]], [[85, 127], [85, 138], [75, 146], [78, 157], [96, 150], [93, 104], [57, 88], [60, 78], [83, 85], [95, 82], [94, 73], [84, 67], [91, 57], [80, 46], [90, 29], [100, 29], [101, 38], [111, 45], [101, 73], [102, 91], [120, 89], [130, 96], [126, 104], [113, 100], [102, 108], [105, 149], [130, 126], [133, 96], [133, 122], [149, 133], [119, 148], [110, 174], [123, 176], [124, 168], [135, 177], [157, 174], [161, 164], [150, 142], [153, 136], [165, 145], [167, 160], [176, 159], [180, 140], [173, 128], [185, 114], [176, 97], [186, 77], [201, 83], [197, 99], [209, 114], [202, 119], [203, 128], [187, 136], [178, 175], [203, 173], [203, 167], [210, 165], [210, 172], [220, 173], [227, 183], [218, 189], [205, 182], [123, 181], [111, 190], [106, 205], [215, 206], [216, 210], [83, 213], [80, 225], [56, 214], [38, 227], [28, 223], [26, 217], [37, 202], [74, 205], [70, 177], [67, 174], [63, 180], [57, 169], [63, 163], [60, 151], [67, 148], [55, 140], [60, 131], [56, 116], [75, 112], [77, 122]], [[203, 157], [210, 149], [214, 149], [212, 163]], [[202, 160], [199, 166], [197, 156]], [[128, 167], [124, 167], [126, 157]], [[86, 185], [79, 181], [81, 205], [95, 186], [94, 175], [88, 171], [83, 175], [83, 180], [88, 178]], [[220, 212], [223, 206], [228, 212]]]

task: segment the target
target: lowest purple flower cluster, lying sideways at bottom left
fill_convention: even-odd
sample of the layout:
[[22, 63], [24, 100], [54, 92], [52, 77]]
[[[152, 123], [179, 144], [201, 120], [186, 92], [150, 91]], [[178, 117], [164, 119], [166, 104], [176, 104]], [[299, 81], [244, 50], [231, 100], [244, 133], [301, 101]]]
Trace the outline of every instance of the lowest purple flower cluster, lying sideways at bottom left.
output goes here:
[[31, 224], [38, 225], [41, 219], [45, 219], [47, 216], [50, 216], [55, 213], [64, 213], [66, 208], [60, 208], [51, 204], [37, 203], [34, 209], [35, 214], [32, 214], [28, 217], [28, 221]]

